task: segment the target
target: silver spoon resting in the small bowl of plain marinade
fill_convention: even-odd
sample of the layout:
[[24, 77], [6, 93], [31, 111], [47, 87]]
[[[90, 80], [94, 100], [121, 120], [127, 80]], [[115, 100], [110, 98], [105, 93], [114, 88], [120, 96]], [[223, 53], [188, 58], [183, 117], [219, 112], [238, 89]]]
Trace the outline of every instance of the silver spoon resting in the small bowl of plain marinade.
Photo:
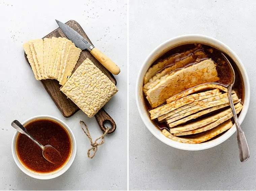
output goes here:
[[21, 134], [28, 136], [32, 141], [34, 141], [39, 147], [41, 147], [43, 157], [53, 164], [57, 164], [60, 161], [61, 155], [59, 151], [54, 148], [52, 145], [43, 146], [39, 143], [34, 137], [32, 137], [26, 130], [26, 128], [17, 120], [14, 120], [11, 123], [11, 126], [19, 131]]

